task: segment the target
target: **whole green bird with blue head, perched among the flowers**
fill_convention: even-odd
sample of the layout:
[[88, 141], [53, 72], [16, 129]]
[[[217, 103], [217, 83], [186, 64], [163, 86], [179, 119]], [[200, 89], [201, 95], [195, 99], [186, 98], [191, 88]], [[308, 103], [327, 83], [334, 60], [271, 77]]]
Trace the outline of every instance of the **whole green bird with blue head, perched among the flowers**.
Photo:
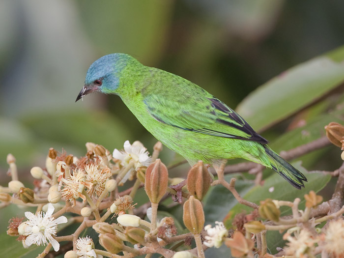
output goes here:
[[177, 75], [127, 54], [110, 54], [91, 64], [76, 101], [94, 91], [118, 95], [156, 139], [190, 165], [244, 158], [273, 169], [298, 189], [307, 181], [240, 115]]

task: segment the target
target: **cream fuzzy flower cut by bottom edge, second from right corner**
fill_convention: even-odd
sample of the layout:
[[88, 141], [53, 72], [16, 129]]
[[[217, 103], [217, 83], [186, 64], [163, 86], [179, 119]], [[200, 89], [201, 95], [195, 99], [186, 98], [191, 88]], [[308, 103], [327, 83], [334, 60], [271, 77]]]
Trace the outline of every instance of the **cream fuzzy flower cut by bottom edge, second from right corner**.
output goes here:
[[313, 254], [312, 252], [315, 249], [316, 239], [307, 229], [302, 229], [295, 237], [291, 236], [287, 232], [283, 238], [288, 241], [287, 247], [285, 248], [287, 255], [293, 255], [297, 258], [305, 258], [307, 257], [305, 256], [306, 254]]

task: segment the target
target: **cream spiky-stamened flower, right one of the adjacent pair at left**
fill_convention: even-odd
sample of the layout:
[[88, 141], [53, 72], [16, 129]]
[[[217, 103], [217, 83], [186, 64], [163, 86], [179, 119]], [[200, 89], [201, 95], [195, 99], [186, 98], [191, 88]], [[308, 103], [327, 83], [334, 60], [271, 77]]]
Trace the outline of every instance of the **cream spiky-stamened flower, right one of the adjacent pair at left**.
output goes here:
[[87, 190], [87, 194], [93, 199], [100, 196], [105, 189], [106, 180], [112, 176], [108, 167], [99, 170], [97, 165], [91, 164], [85, 166], [86, 181], [92, 183], [92, 187]]

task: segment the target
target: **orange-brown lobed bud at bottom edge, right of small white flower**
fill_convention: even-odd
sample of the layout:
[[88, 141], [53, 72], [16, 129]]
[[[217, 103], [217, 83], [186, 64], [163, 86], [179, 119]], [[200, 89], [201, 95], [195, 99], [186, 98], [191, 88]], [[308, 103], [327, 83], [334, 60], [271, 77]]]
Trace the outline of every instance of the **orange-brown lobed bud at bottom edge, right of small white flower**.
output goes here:
[[253, 242], [246, 239], [240, 231], [235, 231], [231, 238], [227, 238], [225, 245], [230, 248], [232, 257], [246, 257], [252, 254]]

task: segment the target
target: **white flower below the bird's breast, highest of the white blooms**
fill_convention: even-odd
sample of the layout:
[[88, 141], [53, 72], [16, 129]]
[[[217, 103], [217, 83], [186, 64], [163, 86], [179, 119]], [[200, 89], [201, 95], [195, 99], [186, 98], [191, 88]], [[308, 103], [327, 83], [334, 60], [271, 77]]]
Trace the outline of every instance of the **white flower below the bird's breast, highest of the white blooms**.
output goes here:
[[[137, 170], [142, 166], [148, 167], [151, 163], [149, 152], [139, 141], [130, 144], [129, 141], [124, 143], [124, 151], [114, 150], [113, 157], [121, 161], [122, 166], [128, 166], [130, 162], [134, 162], [134, 168]], [[124, 183], [134, 169], [129, 170], [121, 180]]]

